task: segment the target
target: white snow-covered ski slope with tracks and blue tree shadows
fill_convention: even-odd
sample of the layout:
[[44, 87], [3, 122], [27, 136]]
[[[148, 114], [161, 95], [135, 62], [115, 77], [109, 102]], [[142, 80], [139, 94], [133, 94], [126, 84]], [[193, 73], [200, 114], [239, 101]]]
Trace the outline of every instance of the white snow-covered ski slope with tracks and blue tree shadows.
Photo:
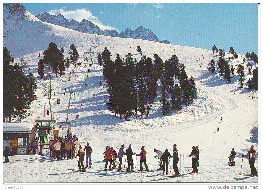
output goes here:
[[[25, 74], [33, 73], [38, 83], [36, 95], [38, 99], [33, 102], [28, 115], [22, 121], [35, 123], [35, 120], [50, 120], [45, 111], [49, 109], [48, 97], [44, 96], [43, 80], [38, 78], [38, 61], [43, 58], [43, 51], [48, 48], [50, 42], [54, 42], [58, 48], [64, 47], [64, 57], [68, 57], [70, 44], [74, 44], [78, 51], [88, 51], [95, 35], [80, 33], [75, 30], [63, 28], [42, 22], [32, 16], [27, 11], [17, 14], [10, 14], [10, 8], [3, 9], [3, 46], [15, 57], [15, 62], [19, 56], [27, 59], [28, 68]], [[22, 16], [21, 16], [22, 15]], [[24, 16], [23, 16], [24, 15]], [[17, 18], [20, 19], [17, 20]], [[214, 44], [211, 44], [211, 47]], [[219, 59], [219, 55], [212, 54], [211, 50], [192, 48], [179, 45], [162, 44], [153, 41], [116, 38], [99, 35], [98, 48], [95, 54], [101, 53], [104, 47], [108, 47], [111, 52], [111, 59], [116, 54], [121, 54], [125, 58], [131, 53], [133, 58], [140, 60], [136, 47], [141, 46], [142, 55], [152, 57], [158, 54], [163, 61], [176, 54], [179, 62], [186, 66], [188, 76], [193, 75], [196, 79], [198, 95], [194, 103], [185, 106], [179, 112], [163, 116], [156, 98], [156, 105], [152, 107], [148, 118], [129, 118], [124, 121], [115, 118], [107, 110], [108, 93], [106, 83], [103, 81], [103, 68], [95, 60], [92, 67], [85, 67], [85, 55], [80, 54], [81, 66], [70, 66], [66, 74], [59, 78], [52, 78], [52, 91], [59, 93], [52, 94], [51, 107], [54, 112], [54, 119], [65, 121], [69, 94], [64, 95], [64, 88], [72, 94], [69, 110], [69, 121], [74, 135], [79, 138], [79, 144], [83, 146], [89, 142], [92, 147], [92, 166], [87, 173], [74, 173], [68, 169], [76, 169], [76, 160], [50, 160], [49, 153], [44, 155], [12, 156], [14, 163], [3, 165], [3, 182], [203, 182], [203, 183], [237, 183], [254, 182], [258, 183], [258, 177], [239, 175], [242, 154], [247, 154], [250, 146], [254, 144], [254, 149], [258, 149], [258, 91], [248, 91], [238, 88], [238, 76], [232, 75], [232, 82], [225, 80], [207, 70], [208, 62]], [[227, 49], [227, 47], [225, 47]], [[177, 51], [178, 50], [178, 51]], [[38, 58], [38, 53], [41, 57]], [[230, 54], [226, 52], [226, 57]], [[229, 61], [230, 65], [237, 68], [242, 64], [241, 55], [234, 61]], [[199, 58], [201, 60], [199, 60]], [[200, 67], [201, 66], [201, 67]], [[253, 69], [257, 65], [253, 65]], [[72, 72], [74, 69], [74, 73]], [[90, 72], [88, 72], [90, 69]], [[89, 75], [87, 79], [86, 75]], [[68, 77], [71, 80], [68, 81]], [[246, 71], [246, 80], [252, 78]], [[102, 86], [99, 86], [99, 81]], [[87, 86], [84, 86], [84, 84]], [[215, 91], [215, 94], [213, 93]], [[234, 92], [236, 92], [234, 94]], [[248, 98], [250, 96], [250, 98]], [[251, 98], [253, 96], [253, 99]], [[56, 99], [60, 98], [60, 104]], [[80, 108], [82, 103], [83, 108]], [[79, 114], [79, 120], [75, 120], [75, 115]], [[223, 122], [220, 118], [223, 117]], [[56, 129], [58, 123], [55, 125]], [[220, 132], [217, 131], [219, 127]], [[67, 127], [60, 130], [60, 136], [66, 136]], [[51, 134], [53, 134], [51, 132]], [[49, 136], [50, 138], [51, 136]], [[177, 144], [179, 156], [184, 155], [184, 167], [181, 168], [181, 178], [161, 177], [160, 171], [150, 171], [142, 173], [115, 173], [103, 172], [104, 167], [103, 152], [105, 146], [113, 146], [118, 152], [121, 144], [132, 145], [133, 151], [139, 153], [141, 146], [145, 146], [147, 151], [147, 165], [149, 169], [157, 169], [159, 163], [154, 158], [156, 155], [153, 149], [164, 152], [168, 148], [172, 153], [173, 144]], [[200, 160], [199, 174], [192, 174], [185, 170], [191, 170], [192, 146], [199, 145]], [[235, 149], [236, 166], [226, 166], [228, 156]], [[125, 157], [124, 157], [125, 159]], [[118, 161], [118, 159], [117, 159]], [[181, 167], [183, 157], [181, 157]], [[43, 167], [43, 165], [45, 167]], [[124, 162], [123, 162], [124, 167]], [[173, 159], [171, 158], [171, 168]], [[180, 161], [178, 162], [180, 170]], [[136, 160], [136, 169], [139, 169], [139, 157]], [[170, 166], [169, 166], [170, 169]], [[258, 170], [258, 157], [256, 157], [256, 169]], [[35, 173], [38, 175], [35, 175]], [[250, 173], [247, 159], [243, 159], [242, 173]], [[17, 175], [20, 173], [21, 175]], [[173, 172], [172, 172], [173, 174]]]

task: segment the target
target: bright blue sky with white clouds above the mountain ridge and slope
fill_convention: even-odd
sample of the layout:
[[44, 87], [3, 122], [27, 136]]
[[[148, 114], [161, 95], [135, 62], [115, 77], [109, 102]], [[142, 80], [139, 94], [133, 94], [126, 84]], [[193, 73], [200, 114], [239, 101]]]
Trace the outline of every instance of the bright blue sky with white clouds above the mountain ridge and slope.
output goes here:
[[90, 20], [101, 30], [138, 26], [150, 29], [160, 41], [258, 55], [257, 3], [22, 3], [33, 15], [48, 12], [69, 20]]

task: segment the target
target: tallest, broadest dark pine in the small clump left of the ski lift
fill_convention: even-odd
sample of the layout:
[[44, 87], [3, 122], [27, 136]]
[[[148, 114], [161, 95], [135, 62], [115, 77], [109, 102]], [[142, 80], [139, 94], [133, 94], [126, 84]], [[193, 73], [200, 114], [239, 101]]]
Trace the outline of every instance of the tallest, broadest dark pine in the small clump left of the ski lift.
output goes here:
[[51, 42], [48, 46], [48, 49], [44, 50], [44, 63], [47, 64], [48, 62], [51, 64], [51, 68], [53, 73], [56, 73], [58, 76], [58, 67], [59, 67], [59, 56], [60, 51], [57, 45]]

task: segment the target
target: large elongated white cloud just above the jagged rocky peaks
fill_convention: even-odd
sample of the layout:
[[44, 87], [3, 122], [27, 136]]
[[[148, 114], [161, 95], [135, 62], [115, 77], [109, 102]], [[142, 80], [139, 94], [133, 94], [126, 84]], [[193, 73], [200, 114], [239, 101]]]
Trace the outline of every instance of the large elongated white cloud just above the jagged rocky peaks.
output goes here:
[[[59, 10], [55, 9], [55, 10], [49, 11], [48, 13], [50, 15], [61, 14], [69, 20], [73, 19], [73, 20], [77, 20], [78, 22], [81, 22], [83, 19], [90, 20], [92, 23], [97, 25], [100, 28], [100, 30], [108, 29], [108, 30], [116, 30], [117, 32], [119, 32], [117, 28], [114, 28], [112, 26], [103, 25], [100, 19], [97, 16], [94, 16], [92, 12], [90, 12], [86, 8], [75, 9], [73, 11], [65, 11], [64, 9], [59, 9]], [[103, 12], [101, 11], [100, 14], [103, 14]]]

